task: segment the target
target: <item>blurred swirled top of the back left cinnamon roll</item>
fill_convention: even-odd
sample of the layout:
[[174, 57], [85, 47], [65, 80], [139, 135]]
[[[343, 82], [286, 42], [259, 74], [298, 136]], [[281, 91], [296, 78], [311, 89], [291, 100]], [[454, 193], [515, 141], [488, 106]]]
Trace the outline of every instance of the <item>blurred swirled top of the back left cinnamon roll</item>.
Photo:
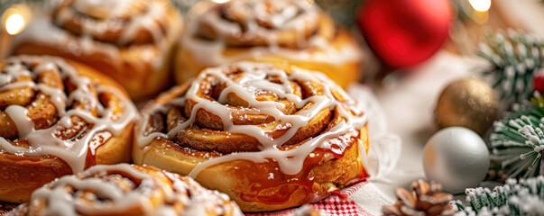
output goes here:
[[161, 0], [66, 0], [53, 11], [53, 22], [79, 36], [117, 45], [159, 42], [171, 28]]

